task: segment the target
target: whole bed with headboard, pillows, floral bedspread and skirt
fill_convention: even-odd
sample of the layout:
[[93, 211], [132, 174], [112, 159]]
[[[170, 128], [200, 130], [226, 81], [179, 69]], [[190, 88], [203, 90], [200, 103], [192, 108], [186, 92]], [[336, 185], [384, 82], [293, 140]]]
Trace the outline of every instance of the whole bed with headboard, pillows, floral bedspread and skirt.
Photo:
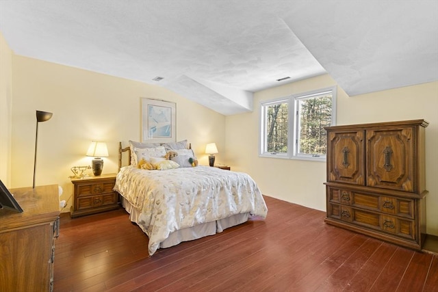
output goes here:
[[[161, 164], [161, 156], [159, 163], [153, 158], [162, 155], [162, 145], [139, 148], [145, 144], [130, 141], [130, 146], [122, 148], [119, 144], [120, 170], [114, 190], [129, 219], [149, 237], [149, 256], [159, 248], [220, 233], [252, 216], [266, 218], [268, 212], [259, 187], [248, 174], [181, 162], [194, 156], [190, 144], [183, 142], [165, 148], [166, 152], [179, 151], [179, 166], [161, 170], [144, 170], [138, 164], [140, 157]], [[123, 152], [128, 152], [127, 166], [122, 166]]]

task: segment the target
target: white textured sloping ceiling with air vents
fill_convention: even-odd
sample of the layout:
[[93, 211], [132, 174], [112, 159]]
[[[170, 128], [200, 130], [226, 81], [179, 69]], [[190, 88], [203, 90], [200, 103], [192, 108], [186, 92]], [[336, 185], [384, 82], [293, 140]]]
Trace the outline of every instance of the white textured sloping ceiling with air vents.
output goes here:
[[18, 55], [156, 84], [224, 115], [326, 73], [349, 96], [438, 80], [436, 0], [0, 0], [0, 31]]

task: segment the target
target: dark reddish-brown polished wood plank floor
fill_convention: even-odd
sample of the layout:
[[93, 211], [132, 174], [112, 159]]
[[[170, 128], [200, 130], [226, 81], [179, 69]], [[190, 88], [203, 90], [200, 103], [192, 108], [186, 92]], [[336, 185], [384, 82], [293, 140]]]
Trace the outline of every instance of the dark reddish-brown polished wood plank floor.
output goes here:
[[329, 226], [322, 211], [266, 203], [266, 220], [152, 257], [123, 209], [63, 214], [55, 291], [438, 291], [436, 255]]

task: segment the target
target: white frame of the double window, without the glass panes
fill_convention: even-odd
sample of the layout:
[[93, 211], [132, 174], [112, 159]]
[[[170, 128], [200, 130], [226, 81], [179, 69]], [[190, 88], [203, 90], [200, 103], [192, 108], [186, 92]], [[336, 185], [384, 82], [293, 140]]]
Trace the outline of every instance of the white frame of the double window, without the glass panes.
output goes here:
[[[309, 92], [301, 92], [292, 94], [290, 96], [283, 96], [281, 98], [274, 98], [267, 101], [260, 102], [260, 116], [259, 116], [259, 157], [281, 158], [281, 159], [297, 159], [308, 161], [326, 161], [326, 155], [309, 155], [298, 153], [298, 135], [299, 135], [299, 113], [298, 103], [303, 99], [316, 98], [326, 94], [332, 95], [331, 105], [331, 126], [336, 124], [336, 107], [337, 107], [337, 86], [327, 88], [320, 88], [318, 90], [311, 90]], [[287, 103], [287, 152], [285, 153], [270, 153], [265, 152], [266, 149], [266, 109], [269, 105], [276, 105], [278, 103]]]

